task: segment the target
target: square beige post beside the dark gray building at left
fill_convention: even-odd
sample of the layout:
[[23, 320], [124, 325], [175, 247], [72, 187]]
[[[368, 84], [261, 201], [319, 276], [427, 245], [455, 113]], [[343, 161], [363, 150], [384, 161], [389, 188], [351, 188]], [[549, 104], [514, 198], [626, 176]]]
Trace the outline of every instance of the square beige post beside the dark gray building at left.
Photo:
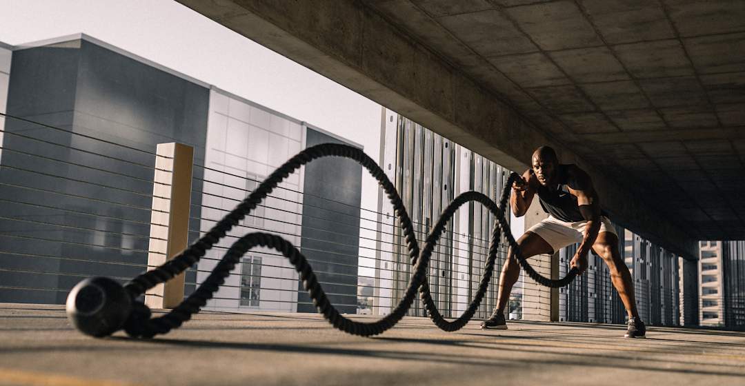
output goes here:
[[[174, 142], [158, 144], [157, 154], [148, 271], [173, 259], [188, 246], [194, 148]], [[145, 304], [150, 308], [165, 309], [178, 306], [183, 300], [184, 276], [182, 273], [168, 283], [148, 289]]]

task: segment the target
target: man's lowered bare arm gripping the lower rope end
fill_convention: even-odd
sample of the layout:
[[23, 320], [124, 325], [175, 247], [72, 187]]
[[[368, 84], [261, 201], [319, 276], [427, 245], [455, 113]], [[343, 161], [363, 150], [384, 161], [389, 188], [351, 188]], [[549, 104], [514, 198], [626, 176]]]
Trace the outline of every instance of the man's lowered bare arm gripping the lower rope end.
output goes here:
[[572, 170], [570, 181], [568, 181], [569, 190], [574, 196], [577, 196], [577, 205], [580, 206], [580, 213], [587, 221], [585, 231], [577, 249], [577, 254], [571, 260], [570, 266], [580, 270], [582, 274], [587, 269], [587, 254], [592, 249], [597, 239], [597, 233], [600, 231], [600, 197], [597, 196], [595, 187], [592, 185], [592, 178], [580, 168]]

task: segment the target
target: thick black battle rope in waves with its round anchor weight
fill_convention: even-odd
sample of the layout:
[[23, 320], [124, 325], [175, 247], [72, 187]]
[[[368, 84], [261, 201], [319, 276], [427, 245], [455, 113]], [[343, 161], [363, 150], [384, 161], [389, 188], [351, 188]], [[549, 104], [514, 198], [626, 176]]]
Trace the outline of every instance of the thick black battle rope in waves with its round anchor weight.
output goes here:
[[[297, 248], [287, 240], [282, 239], [282, 237], [255, 232], [246, 234], [234, 242], [222, 260], [215, 266], [212, 274], [180, 305], [165, 315], [158, 318], [150, 318], [150, 309], [145, 304], [137, 302], [135, 300], [137, 297], [143, 295], [148, 289], [153, 288], [159, 283], [165, 283], [171, 280], [171, 278], [186, 271], [186, 268], [193, 266], [194, 263], [197, 263], [204, 256], [209, 248], [212, 248], [219, 239], [225, 237], [230, 229], [238, 225], [238, 222], [244, 216], [247, 216], [251, 210], [254, 210], [279, 182], [288, 178], [291, 173], [302, 165], [326, 156], [350, 158], [360, 163], [378, 180], [388, 199], [393, 203], [393, 209], [396, 216], [399, 217], [399, 223], [403, 228], [410, 263], [413, 266], [413, 274], [410, 276], [405, 295], [399, 302], [399, 305], [393, 309], [393, 312], [373, 323], [355, 322], [345, 318], [329, 302], [313, 273], [313, 269], [308, 265], [308, 261]], [[241, 257], [251, 248], [261, 246], [276, 249], [276, 251], [281, 252], [283, 256], [290, 260], [290, 263], [298, 271], [300, 280], [302, 280], [305, 289], [313, 299], [318, 312], [323, 314], [329, 323], [333, 324], [337, 329], [354, 335], [378, 335], [393, 327], [393, 325], [404, 317], [413, 303], [416, 292], [419, 292], [419, 296], [428, 315], [437, 324], [437, 327], [446, 331], [456, 331], [468, 323], [486, 294], [486, 289], [495, 266], [498, 240], [501, 234], [504, 234], [506, 237], [507, 242], [515, 252], [524, 271], [533, 280], [536, 280], [537, 283], [543, 286], [557, 288], [566, 286], [577, 276], [577, 268], [572, 268], [566, 277], [561, 280], [548, 279], [537, 273], [523, 257], [522, 251], [513, 238], [509, 225], [507, 225], [507, 219], [504, 216], [504, 208], [507, 208], [510, 187], [517, 178], [521, 177], [516, 173], [510, 174], [510, 178], [508, 178], [507, 184], [504, 185], [504, 190], [501, 193], [500, 205], [495, 204], [489, 197], [478, 192], [471, 191], [457, 196], [443, 210], [440, 219], [437, 220], [436, 225], [425, 240], [424, 248], [420, 251], [414, 237], [413, 225], [402, 199], [398, 191], [396, 191], [396, 187], [393, 186], [383, 170], [372, 158], [367, 156], [361, 149], [342, 144], [320, 144], [309, 147], [299, 152], [275, 170], [243, 202], [238, 204], [235, 209], [215, 224], [209, 232], [200, 237], [200, 239], [190, 245], [185, 251], [177, 255], [177, 257], [168, 260], [162, 266], [139, 275], [124, 287], [120, 286], [114, 280], [105, 277], [95, 277], [78, 283], [72, 289], [67, 299], [68, 317], [81, 332], [98, 337], [111, 335], [113, 332], [118, 331], [118, 329], [124, 329], [128, 335], [136, 338], [152, 338], [157, 334], [165, 334], [171, 331], [171, 329], [180, 327], [183, 322], [191, 318], [191, 315], [199, 312], [200, 307], [205, 306], [207, 300], [211, 299], [219, 286], [224, 283], [225, 278], [235, 268], [235, 265], [240, 262]], [[469, 305], [469, 308], [460, 318], [457, 318], [455, 321], [446, 321], [440, 315], [430, 295], [429, 284], [426, 280], [426, 268], [434, 246], [437, 245], [440, 234], [445, 230], [446, 224], [454, 215], [455, 210], [460, 205], [471, 201], [484, 205], [494, 214], [496, 221], [492, 230], [489, 254], [486, 259], [486, 266], [484, 268], [484, 274], [481, 277], [478, 292]]]

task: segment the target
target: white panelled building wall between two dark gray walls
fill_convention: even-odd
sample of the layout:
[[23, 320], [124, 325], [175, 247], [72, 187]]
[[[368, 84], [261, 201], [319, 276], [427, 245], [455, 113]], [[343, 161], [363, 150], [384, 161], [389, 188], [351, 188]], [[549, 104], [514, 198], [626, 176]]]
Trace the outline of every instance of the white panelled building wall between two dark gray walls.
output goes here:
[[[215, 223], [256, 189], [305, 143], [305, 124], [237, 95], [212, 87], [207, 129], [206, 170], [200, 231]], [[202, 283], [239, 237], [250, 232], [281, 234], [301, 247], [302, 168], [282, 181], [259, 207], [226, 232], [197, 264]], [[203, 309], [242, 312], [297, 312], [298, 274], [270, 248], [253, 248], [241, 258]]]

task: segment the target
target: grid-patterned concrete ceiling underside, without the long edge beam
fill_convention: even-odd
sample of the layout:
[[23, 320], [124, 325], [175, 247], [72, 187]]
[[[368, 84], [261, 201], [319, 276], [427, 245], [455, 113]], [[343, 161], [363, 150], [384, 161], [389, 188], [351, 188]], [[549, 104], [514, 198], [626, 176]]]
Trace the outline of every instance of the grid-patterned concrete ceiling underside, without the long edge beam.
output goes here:
[[369, 1], [700, 239], [745, 239], [745, 1]]

